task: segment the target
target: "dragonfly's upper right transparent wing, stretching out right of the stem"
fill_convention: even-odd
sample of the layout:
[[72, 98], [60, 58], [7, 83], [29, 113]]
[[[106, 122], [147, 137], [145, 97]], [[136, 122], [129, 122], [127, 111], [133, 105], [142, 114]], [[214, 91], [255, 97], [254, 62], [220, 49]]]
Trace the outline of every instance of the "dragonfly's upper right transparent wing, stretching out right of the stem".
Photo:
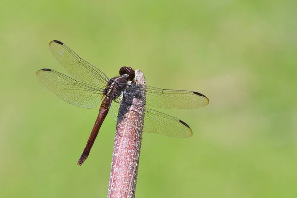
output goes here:
[[146, 93], [146, 105], [159, 108], [198, 108], [209, 104], [206, 96], [193, 91], [147, 86]]

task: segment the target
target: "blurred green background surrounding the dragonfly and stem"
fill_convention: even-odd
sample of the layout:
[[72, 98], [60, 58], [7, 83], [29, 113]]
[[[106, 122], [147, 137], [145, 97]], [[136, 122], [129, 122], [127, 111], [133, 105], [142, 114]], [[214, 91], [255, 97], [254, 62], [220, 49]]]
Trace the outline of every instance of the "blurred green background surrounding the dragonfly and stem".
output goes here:
[[297, 2], [14, 1], [0, 12], [0, 197], [107, 196], [116, 123], [76, 165], [99, 107], [67, 104], [35, 78], [68, 75], [57, 39], [107, 76], [203, 93], [200, 109], [156, 109], [191, 138], [144, 134], [137, 198], [297, 197]]

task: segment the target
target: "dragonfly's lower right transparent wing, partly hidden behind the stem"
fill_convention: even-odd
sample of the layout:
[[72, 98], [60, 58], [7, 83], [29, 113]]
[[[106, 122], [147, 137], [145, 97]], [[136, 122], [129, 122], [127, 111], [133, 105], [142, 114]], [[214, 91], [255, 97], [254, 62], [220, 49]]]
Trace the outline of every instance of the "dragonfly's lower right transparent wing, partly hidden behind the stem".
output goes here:
[[[109, 114], [117, 121], [119, 103], [112, 102]], [[183, 121], [170, 115], [146, 108], [144, 132], [157, 133], [164, 136], [187, 138], [192, 136], [191, 128]]]

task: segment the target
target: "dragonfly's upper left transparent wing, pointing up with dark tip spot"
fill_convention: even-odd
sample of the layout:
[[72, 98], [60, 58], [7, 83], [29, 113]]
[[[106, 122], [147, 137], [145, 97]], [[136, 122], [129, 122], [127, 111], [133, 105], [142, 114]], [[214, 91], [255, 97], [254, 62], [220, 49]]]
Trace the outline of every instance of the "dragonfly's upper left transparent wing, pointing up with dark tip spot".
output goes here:
[[57, 61], [76, 79], [98, 87], [106, 87], [107, 76], [87, 61], [81, 59], [64, 43], [57, 40], [51, 41], [49, 50]]

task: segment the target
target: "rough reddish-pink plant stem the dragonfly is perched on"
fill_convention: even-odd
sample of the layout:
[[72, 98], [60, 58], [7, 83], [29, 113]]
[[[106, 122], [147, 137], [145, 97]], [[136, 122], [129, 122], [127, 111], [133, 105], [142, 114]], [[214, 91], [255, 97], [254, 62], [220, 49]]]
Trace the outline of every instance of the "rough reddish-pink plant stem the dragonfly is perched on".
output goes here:
[[119, 108], [108, 198], [135, 197], [146, 103], [145, 89], [129, 89], [135, 86], [146, 87], [145, 77], [139, 70], [135, 70], [135, 79], [123, 94], [129, 102], [121, 103]]

